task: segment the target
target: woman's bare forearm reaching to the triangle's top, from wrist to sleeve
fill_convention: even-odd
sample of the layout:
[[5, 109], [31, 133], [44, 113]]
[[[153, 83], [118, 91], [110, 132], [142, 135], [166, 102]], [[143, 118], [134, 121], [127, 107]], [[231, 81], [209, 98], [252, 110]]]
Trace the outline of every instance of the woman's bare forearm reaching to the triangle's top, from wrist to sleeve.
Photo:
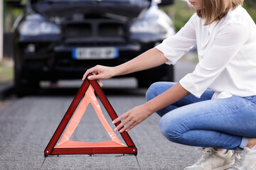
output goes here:
[[164, 57], [164, 54], [156, 48], [152, 48], [142, 53], [142, 55], [135, 57], [133, 60], [114, 67], [114, 76], [150, 69], [164, 64], [165, 62], [167, 62], [167, 59]]

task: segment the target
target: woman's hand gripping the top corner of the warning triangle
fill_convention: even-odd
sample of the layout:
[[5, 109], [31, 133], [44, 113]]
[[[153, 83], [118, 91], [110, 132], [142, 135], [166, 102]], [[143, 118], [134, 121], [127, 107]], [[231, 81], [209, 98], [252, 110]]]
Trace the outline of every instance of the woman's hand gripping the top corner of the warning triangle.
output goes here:
[[113, 67], [106, 67], [102, 65], [97, 65], [95, 67], [92, 67], [90, 69], [87, 69], [85, 74], [82, 77], [82, 80], [85, 80], [87, 75], [89, 73], [92, 73], [92, 76], [88, 77], [90, 80], [96, 79], [100, 86], [102, 86], [102, 83], [100, 82], [100, 79], [110, 79], [114, 75], [114, 68]]

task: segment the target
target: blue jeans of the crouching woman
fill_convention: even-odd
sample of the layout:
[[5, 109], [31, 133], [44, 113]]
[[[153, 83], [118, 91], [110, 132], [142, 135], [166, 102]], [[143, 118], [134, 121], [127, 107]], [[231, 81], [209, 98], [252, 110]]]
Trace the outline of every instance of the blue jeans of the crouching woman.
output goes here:
[[[146, 100], [174, 86], [171, 82], [152, 84]], [[159, 126], [170, 141], [196, 147], [244, 149], [249, 137], [256, 137], [256, 96], [218, 98], [206, 90], [201, 98], [192, 94], [157, 111]]]

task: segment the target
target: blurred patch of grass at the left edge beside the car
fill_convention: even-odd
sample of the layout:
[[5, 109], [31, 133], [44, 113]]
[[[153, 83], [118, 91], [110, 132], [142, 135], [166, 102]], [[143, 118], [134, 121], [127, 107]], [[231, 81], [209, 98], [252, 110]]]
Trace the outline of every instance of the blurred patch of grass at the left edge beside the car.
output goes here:
[[7, 84], [14, 80], [14, 63], [4, 58], [0, 61], [0, 85]]

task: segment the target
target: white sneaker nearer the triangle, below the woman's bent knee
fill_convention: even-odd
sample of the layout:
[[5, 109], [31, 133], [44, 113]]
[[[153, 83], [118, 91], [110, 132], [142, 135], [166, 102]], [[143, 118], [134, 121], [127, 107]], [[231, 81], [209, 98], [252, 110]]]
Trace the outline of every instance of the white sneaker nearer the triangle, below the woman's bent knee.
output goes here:
[[223, 170], [230, 168], [234, 163], [234, 160], [231, 159], [232, 152], [230, 150], [226, 154], [220, 154], [212, 147], [206, 147], [203, 150], [201, 159], [184, 170]]

